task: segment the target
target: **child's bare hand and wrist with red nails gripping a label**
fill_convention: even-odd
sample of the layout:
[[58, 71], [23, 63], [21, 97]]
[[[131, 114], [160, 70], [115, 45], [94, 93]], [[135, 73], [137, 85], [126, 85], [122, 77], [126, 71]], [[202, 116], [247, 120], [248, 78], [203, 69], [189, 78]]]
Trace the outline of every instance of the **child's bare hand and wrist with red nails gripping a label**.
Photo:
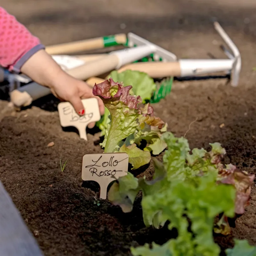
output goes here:
[[[55, 97], [69, 101], [77, 114], [84, 115], [86, 112], [81, 99], [92, 97], [98, 99], [100, 114], [104, 114], [103, 102], [92, 94], [92, 88], [85, 82], [68, 75], [44, 50], [31, 56], [21, 67], [21, 72], [36, 83], [49, 87]], [[92, 128], [94, 125], [95, 123], [91, 123], [88, 127]]]

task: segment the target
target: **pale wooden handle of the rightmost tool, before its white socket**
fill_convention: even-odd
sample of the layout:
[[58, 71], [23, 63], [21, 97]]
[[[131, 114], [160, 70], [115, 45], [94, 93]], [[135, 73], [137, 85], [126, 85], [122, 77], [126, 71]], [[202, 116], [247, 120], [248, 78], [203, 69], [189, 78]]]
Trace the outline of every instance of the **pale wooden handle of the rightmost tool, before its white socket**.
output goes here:
[[121, 73], [125, 70], [138, 70], [147, 73], [152, 78], [167, 76], [180, 76], [180, 63], [177, 62], [138, 62], [126, 65], [118, 70]]

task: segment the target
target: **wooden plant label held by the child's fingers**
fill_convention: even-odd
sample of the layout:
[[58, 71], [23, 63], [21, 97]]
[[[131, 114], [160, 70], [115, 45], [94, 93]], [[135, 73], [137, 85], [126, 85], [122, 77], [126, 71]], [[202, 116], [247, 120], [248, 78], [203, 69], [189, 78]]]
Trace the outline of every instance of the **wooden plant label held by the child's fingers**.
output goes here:
[[61, 102], [58, 105], [60, 124], [63, 127], [74, 126], [79, 131], [81, 139], [87, 140], [86, 127], [92, 122], [100, 120], [100, 109], [96, 98], [82, 100], [85, 115], [79, 116], [69, 102]]

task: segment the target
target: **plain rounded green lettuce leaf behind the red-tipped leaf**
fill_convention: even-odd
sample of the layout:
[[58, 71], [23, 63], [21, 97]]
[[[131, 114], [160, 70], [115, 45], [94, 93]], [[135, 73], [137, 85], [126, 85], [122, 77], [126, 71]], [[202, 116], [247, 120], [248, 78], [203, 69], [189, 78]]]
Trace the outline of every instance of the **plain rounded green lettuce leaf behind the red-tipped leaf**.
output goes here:
[[132, 85], [134, 94], [140, 95], [142, 103], [150, 100], [156, 90], [154, 79], [140, 71], [125, 70], [122, 73], [118, 73], [118, 71], [114, 70], [108, 76], [108, 78], [110, 77], [115, 82], [123, 83], [124, 86]]

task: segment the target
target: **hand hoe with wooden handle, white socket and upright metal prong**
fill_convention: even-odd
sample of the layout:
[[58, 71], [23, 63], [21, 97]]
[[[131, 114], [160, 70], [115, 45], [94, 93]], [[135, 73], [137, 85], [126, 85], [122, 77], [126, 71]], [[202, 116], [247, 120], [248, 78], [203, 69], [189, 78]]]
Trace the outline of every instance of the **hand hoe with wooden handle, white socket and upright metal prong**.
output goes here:
[[[231, 76], [231, 85], [235, 87], [238, 85], [241, 71], [241, 55], [236, 45], [231, 41], [218, 22], [214, 22], [214, 28], [231, 51], [229, 52], [222, 46], [223, 52], [228, 57], [226, 59], [179, 59], [178, 61], [138, 62], [123, 66], [118, 70], [118, 73], [125, 70], [137, 70], [147, 73], [152, 78], [162, 78], [170, 76], [195, 77], [198, 75], [224, 72]], [[129, 34], [128, 36], [130, 37], [129, 42], [138, 44], [138, 36], [133, 34]]]

